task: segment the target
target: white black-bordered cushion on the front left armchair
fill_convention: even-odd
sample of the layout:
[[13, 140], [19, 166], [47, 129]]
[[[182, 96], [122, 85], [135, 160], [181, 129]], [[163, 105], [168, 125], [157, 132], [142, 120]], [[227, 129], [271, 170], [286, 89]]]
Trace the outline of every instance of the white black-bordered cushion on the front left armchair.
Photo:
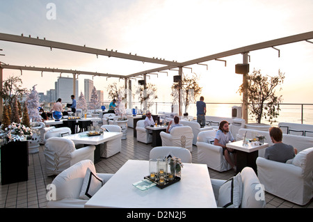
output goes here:
[[104, 182], [87, 168], [79, 198], [89, 200], [102, 187]]

